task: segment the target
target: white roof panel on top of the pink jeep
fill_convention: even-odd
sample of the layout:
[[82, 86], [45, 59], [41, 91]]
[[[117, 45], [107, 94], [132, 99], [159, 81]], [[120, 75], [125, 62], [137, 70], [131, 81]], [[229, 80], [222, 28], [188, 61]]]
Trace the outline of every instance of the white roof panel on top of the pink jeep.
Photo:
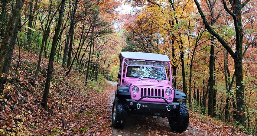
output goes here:
[[145, 52], [120, 52], [123, 58], [137, 60], [155, 60], [155, 61], [170, 61], [167, 55], [145, 53]]

